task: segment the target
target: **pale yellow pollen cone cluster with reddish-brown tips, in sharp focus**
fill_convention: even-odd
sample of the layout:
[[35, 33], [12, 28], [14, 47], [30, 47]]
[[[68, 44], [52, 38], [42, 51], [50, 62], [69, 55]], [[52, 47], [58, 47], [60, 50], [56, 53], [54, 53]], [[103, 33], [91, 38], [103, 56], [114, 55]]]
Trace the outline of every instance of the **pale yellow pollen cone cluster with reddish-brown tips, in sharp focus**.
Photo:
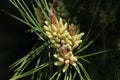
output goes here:
[[77, 57], [74, 56], [73, 49], [82, 43], [81, 37], [84, 33], [76, 34], [73, 24], [63, 23], [61, 18], [57, 20], [52, 11], [49, 14], [50, 21], [45, 21], [43, 27], [46, 35], [58, 51], [58, 54], [54, 54], [54, 57], [58, 59], [54, 65], [63, 65], [63, 72], [65, 72], [70, 64], [76, 66]]

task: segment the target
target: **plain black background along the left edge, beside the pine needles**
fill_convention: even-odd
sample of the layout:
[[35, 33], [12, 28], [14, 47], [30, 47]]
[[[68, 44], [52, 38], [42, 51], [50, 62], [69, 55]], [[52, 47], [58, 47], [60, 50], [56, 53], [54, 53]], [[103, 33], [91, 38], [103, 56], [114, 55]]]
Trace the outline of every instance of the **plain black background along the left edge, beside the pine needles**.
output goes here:
[[[9, 0], [1, 0], [0, 9], [19, 15]], [[0, 11], [0, 80], [12, 76], [9, 66], [25, 55], [37, 40], [27, 29], [28, 26]]]

